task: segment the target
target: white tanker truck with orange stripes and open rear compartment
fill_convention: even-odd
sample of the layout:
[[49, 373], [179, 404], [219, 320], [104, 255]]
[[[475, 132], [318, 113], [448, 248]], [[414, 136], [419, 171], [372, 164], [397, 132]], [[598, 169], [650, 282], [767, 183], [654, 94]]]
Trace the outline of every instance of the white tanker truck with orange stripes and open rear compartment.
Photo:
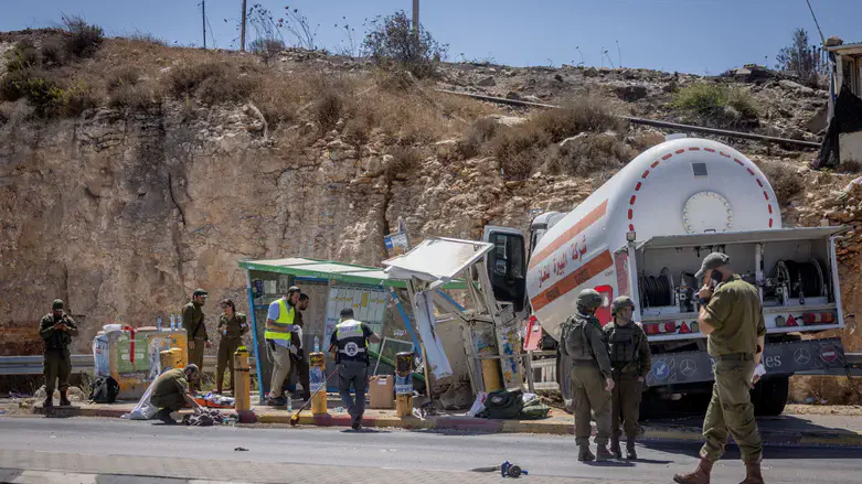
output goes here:
[[[532, 312], [554, 342], [581, 290], [605, 297], [603, 325], [610, 301], [631, 297], [652, 349], [649, 391], [673, 398], [711, 391], [696, 322], [702, 281], [693, 275], [706, 254], [727, 254], [763, 301], [767, 375], [753, 390], [755, 408], [778, 415], [790, 375], [844, 367], [840, 338], [808, 337], [844, 326], [834, 251], [842, 230], [783, 228], [757, 165], [725, 144], [684, 138], [641, 153], [572, 212], [538, 216], [529, 240], [504, 227], [487, 227], [485, 239], [496, 247], [487, 256], [496, 299]], [[568, 398], [570, 364], [560, 358], [557, 381]]]

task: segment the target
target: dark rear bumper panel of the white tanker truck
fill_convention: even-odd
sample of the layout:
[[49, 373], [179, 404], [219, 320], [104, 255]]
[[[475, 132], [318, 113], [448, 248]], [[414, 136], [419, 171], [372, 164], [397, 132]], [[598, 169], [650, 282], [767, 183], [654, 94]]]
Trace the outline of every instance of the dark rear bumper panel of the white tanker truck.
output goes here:
[[[763, 364], [766, 376], [831, 375], [847, 367], [840, 338], [795, 341], [766, 344]], [[706, 352], [663, 353], [652, 355], [647, 386], [712, 381], [712, 358]]]

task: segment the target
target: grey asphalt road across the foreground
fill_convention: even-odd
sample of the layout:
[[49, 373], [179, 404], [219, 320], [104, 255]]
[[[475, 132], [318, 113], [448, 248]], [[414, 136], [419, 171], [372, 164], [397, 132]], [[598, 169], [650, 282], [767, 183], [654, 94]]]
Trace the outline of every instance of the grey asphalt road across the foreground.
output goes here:
[[[466, 472], [515, 462], [530, 472], [524, 482], [667, 483], [695, 465], [695, 443], [645, 442], [640, 461], [584, 464], [575, 460], [574, 439], [556, 435], [366, 430], [361, 433], [319, 428], [188, 428], [118, 419], [0, 418], [0, 469], [75, 471], [236, 481], [242, 472], [298, 470], [354, 482], [427, 476], [417, 482], [499, 482], [499, 476]], [[244, 448], [247, 451], [236, 451]], [[764, 476], [769, 483], [859, 483], [862, 449], [768, 447]], [[738, 483], [744, 467], [735, 449], [715, 466], [713, 483]], [[138, 467], [131, 469], [138, 463]], [[274, 463], [286, 465], [285, 471]], [[291, 464], [301, 464], [294, 465]], [[74, 469], [68, 469], [74, 467]], [[351, 467], [363, 467], [356, 471]], [[263, 475], [263, 474], [260, 474]], [[356, 477], [361, 478], [356, 480]], [[435, 477], [436, 476], [436, 477]], [[444, 477], [446, 476], [446, 477]], [[0, 476], [2, 477], [2, 476]], [[387, 478], [392, 477], [392, 478]], [[461, 478], [462, 477], [462, 478]], [[264, 477], [260, 477], [265, 482]], [[0, 478], [3, 481], [3, 478]], [[338, 480], [336, 480], [338, 481]], [[58, 481], [61, 482], [61, 481]], [[316, 482], [324, 482], [316, 478]], [[344, 481], [341, 481], [344, 482]]]

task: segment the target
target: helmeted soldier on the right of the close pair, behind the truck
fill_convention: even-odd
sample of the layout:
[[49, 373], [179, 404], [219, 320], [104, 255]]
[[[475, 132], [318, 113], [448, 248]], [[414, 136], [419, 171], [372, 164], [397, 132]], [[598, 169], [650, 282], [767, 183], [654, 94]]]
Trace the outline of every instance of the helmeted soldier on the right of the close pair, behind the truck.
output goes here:
[[638, 458], [635, 439], [638, 437], [638, 417], [643, 381], [652, 364], [650, 362], [647, 334], [631, 320], [635, 302], [628, 295], [620, 295], [610, 304], [614, 323], [605, 325], [605, 338], [610, 349], [610, 366], [614, 370], [614, 391], [610, 399], [610, 452], [622, 458], [619, 448], [619, 418], [626, 431], [626, 459]]

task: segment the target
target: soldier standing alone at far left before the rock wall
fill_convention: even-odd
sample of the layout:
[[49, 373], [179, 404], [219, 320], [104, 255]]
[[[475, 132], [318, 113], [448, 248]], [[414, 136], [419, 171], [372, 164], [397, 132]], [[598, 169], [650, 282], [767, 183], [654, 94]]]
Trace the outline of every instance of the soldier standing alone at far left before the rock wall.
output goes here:
[[[68, 377], [72, 375], [72, 358], [68, 345], [72, 336], [77, 336], [75, 322], [63, 311], [63, 301], [55, 299], [52, 312], [45, 314], [39, 323], [39, 335], [45, 341], [45, 404], [44, 408], [54, 406], [54, 389], [60, 389], [60, 405], [72, 405], [66, 397]], [[60, 385], [55, 386], [57, 380]]]

